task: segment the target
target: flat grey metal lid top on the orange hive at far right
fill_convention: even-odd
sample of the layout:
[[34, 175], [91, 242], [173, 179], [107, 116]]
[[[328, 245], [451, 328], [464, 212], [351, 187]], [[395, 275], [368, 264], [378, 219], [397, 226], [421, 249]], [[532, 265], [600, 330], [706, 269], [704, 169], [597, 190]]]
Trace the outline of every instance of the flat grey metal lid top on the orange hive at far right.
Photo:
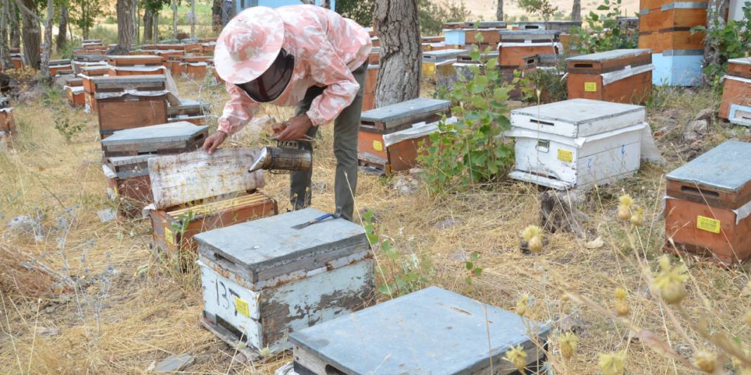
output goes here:
[[728, 140], [668, 173], [674, 181], [737, 192], [751, 181], [751, 143]]

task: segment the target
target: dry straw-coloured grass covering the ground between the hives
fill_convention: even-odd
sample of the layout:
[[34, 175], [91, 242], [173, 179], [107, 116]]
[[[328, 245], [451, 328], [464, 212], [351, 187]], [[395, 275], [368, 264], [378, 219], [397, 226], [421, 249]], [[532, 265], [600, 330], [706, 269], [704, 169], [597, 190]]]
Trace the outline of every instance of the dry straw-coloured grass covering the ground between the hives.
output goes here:
[[[184, 80], [179, 80], [179, 89], [185, 97], [200, 96], [210, 101], [213, 113], [221, 113], [225, 94], [220, 89]], [[710, 106], [708, 96], [671, 94], [662, 109], [686, 109], [690, 105], [695, 112]], [[274, 109], [266, 112], [281, 117], [290, 113]], [[0, 153], [0, 225], [5, 227], [17, 215], [33, 217], [41, 212], [45, 236], [35, 242], [29, 236], [0, 233], [0, 245], [36, 257], [78, 283], [75, 293], [63, 295], [32, 293], [24, 287], [27, 281], [23, 278], [17, 278], [17, 287], [2, 284], [2, 368], [10, 373], [131, 374], [143, 372], [153, 361], [172, 353], [190, 353], [197, 359], [188, 368], [190, 373], [272, 374], [288, 360], [277, 356], [253, 365], [233, 360], [228, 346], [198, 326], [202, 308], [198, 276], [176, 275], [152, 259], [149, 223], [100, 223], [96, 211], [111, 203], [104, 193], [95, 118], [77, 111], [77, 118], [86, 118], [88, 125], [76, 141], [68, 144], [53, 129], [54, 111], [44, 104], [19, 105], [15, 115], [20, 127], [17, 151]], [[322, 133], [315, 157], [313, 205], [328, 209], [333, 206], [335, 159], [330, 151], [330, 127]], [[713, 128], [713, 133], [716, 136], [702, 145], [704, 149], [727, 136], [722, 126]], [[239, 142], [247, 139], [252, 137]], [[619, 350], [628, 351], [628, 374], [689, 374], [640, 342], [629, 341], [623, 326], [565, 301], [551, 287], [563, 287], [606, 307], [611, 307], [613, 291], [623, 287], [629, 293], [629, 318], [633, 323], [653, 330], [673, 346], [689, 344], [677, 337], [675, 326], [647, 292], [647, 281], [614, 214], [617, 196], [623, 191], [635, 196], [646, 208], [647, 219], [639, 233], [640, 256], [652, 261], [662, 253], [662, 175], [682, 159], [671, 142], [677, 141], [660, 142], [671, 160], [668, 165], [644, 166], [634, 178], [591, 194], [587, 239], [547, 235], [549, 242], [539, 255], [519, 251], [521, 230], [538, 222], [538, 192], [528, 184], [506, 181], [463, 193], [431, 196], [425, 189], [412, 194], [397, 192], [391, 186], [401, 177], [360, 175], [357, 209], [375, 211], [379, 231], [393, 239], [401, 252], [430, 260], [430, 284], [508, 310], [513, 310], [518, 297], [527, 293], [532, 297], [529, 317], [578, 317], [584, 331], [579, 338], [580, 349], [567, 366], [569, 374], [596, 372], [597, 353]], [[264, 192], [276, 198], [284, 211], [288, 208], [287, 189], [285, 175], [270, 175]], [[447, 218], [454, 219], [452, 225], [442, 229], [436, 225]], [[584, 242], [597, 236], [608, 245], [584, 248]], [[62, 246], [61, 238], [65, 238]], [[470, 286], [465, 281], [463, 260], [472, 252], [480, 254], [478, 263], [484, 272]], [[748, 297], [741, 297], [749, 275], [743, 269], [725, 271], [701, 263], [690, 265], [690, 275], [687, 310], [697, 316], [704, 310], [697, 295], [701, 290], [713, 306], [710, 328], [746, 343], [751, 341], [751, 329], [741, 322], [743, 312], [751, 308]], [[36, 335], [42, 327], [58, 328], [59, 335]], [[698, 336], [691, 339], [704, 347]]]

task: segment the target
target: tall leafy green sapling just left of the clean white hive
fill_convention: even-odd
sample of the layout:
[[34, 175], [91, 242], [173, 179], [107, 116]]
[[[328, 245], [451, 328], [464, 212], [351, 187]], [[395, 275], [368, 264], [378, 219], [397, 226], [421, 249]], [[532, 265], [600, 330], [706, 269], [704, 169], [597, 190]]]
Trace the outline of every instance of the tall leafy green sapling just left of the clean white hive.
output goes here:
[[[478, 40], [482, 41], [481, 34]], [[474, 77], [460, 81], [451, 89], [439, 89], [439, 98], [450, 99], [454, 124], [439, 123], [440, 132], [430, 135], [430, 144], [422, 146], [418, 160], [425, 166], [423, 178], [433, 191], [454, 184], [466, 186], [491, 181], [505, 175], [514, 157], [513, 148], [501, 134], [511, 127], [506, 101], [517, 79], [501, 83], [495, 58], [486, 58], [490, 47], [481, 53], [477, 46], [469, 53], [481, 65], [469, 67]]]

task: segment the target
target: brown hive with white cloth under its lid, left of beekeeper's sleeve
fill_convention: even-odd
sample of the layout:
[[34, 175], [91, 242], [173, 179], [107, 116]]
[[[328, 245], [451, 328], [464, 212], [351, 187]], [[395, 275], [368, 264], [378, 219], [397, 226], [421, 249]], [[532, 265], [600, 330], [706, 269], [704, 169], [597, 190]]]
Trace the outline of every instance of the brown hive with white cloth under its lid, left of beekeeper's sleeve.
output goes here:
[[163, 75], [95, 77], [94, 98], [99, 133], [167, 123], [166, 80]]

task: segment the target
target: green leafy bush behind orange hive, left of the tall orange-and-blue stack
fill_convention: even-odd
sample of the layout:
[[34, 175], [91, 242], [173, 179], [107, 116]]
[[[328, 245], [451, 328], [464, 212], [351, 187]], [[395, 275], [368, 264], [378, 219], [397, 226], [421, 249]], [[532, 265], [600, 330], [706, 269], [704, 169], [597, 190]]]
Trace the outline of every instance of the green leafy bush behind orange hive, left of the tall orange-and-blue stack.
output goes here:
[[617, 17], [622, 16], [623, 0], [604, 0], [597, 10], [605, 12], [597, 14], [591, 12], [584, 17], [584, 28], [572, 30], [572, 44], [578, 46], [578, 52], [587, 54], [610, 51], [611, 49], [636, 48], [638, 34], [629, 34], [625, 26], [619, 26]]

